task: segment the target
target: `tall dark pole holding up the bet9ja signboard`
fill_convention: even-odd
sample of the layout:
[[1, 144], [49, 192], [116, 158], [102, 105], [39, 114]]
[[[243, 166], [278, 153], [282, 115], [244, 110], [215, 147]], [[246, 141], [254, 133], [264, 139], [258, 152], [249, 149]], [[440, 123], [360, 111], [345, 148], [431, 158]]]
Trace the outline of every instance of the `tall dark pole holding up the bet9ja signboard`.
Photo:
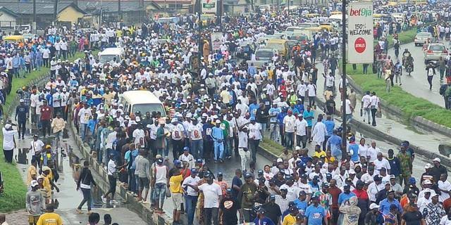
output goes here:
[[342, 0], [342, 9], [341, 9], [341, 15], [342, 15], [342, 134], [341, 134], [341, 143], [342, 143], [342, 160], [345, 160], [347, 158], [347, 118], [346, 118], [346, 98], [347, 98], [347, 91], [346, 91], [346, 0]]

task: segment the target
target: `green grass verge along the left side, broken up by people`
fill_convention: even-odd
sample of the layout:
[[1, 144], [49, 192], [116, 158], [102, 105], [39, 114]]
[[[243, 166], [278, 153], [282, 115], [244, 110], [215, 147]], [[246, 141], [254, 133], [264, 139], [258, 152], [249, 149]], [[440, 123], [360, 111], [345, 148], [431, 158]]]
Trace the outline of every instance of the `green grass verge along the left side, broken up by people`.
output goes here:
[[[84, 53], [76, 53], [75, 57], [69, 58], [69, 60], [75, 60], [76, 58], [82, 58]], [[16, 98], [16, 91], [22, 86], [30, 85], [33, 79], [47, 75], [49, 68], [41, 68], [41, 71], [32, 71], [27, 74], [27, 78], [15, 78], [13, 79], [13, 85], [11, 88], [11, 94], [7, 96], [4, 110], [8, 110], [12, 105], [13, 100]], [[7, 115], [4, 115], [6, 118]], [[0, 133], [0, 143], [3, 143], [3, 134]], [[4, 193], [0, 195], [0, 212], [11, 212], [14, 210], [20, 210], [25, 208], [25, 195], [27, 193], [27, 187], [25, 186], [22, 176], [16, 167], [16, 164], [8, 164], [4, 160], [4, 154], [0, 154], [0, 171], [4, 180]]]

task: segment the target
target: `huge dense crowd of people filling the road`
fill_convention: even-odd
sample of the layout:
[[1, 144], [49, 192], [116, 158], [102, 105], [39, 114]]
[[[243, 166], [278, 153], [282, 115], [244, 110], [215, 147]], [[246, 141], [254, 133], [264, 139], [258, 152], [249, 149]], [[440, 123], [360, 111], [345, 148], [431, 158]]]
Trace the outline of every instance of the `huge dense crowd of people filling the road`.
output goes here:
[[[433, 9], [429, 4], [390, 7], [381, 12], [410, 11], [402, 23], [376, 25], [378, 54], [388, 51], [388, 35], [421, 21], [445, 24], [449, 15], [445, 11], [412, 17], [412, 10]], [[120, 182], [155, 213], [163, 213], [164, 204], [173, 205], [174, 224], [182, 224], [180, 214], [187, 215], [188, 225], [451, 224], [451, 184], [440, 158], [425, 165], [417, 181], [409, 141], [384, 156], [376, 142], [357, 143], [350, 132], [347, 146], [342, 146], [344, 130], [334, 122], [340, 105], [334, 99], [350, 98], [345, 105], [348, 120], [353, 120], [357, 99], [353, 90], [344, 93], [342, 82], [335, 86], [339, 32], [322, 30], [259, 67], [238, 57], [246, 47], [264, 46], [260, 40], [266, 34], [311, 22], [307, 13], [326, 17], [337, 9], [225, 15], [222, 21], [206, 21], [201, 33], [193, 15], [181, 15], [179, 23], [100, 27], [87, 33], [49, 27], [45, 36], [25, 43], [1, 43], [1, 103], [11, 92], [13, 78], [50, 68], [44, 85], [17, 91], [17, 123], [8, 121], [3, 128], [7, 162], [13, 160], [16, 137], [24, 139], [28, 121], [39, 129], [30, 143], [33, 156], [27, 172], [30, 224], [57, 216], [54, 160], [67, 124], [75, 126], [108, 173], [104, 203], [116, 204]], [[426, 29], [434, 32], [430, 27]], [[210, 40], [213, 32], [223, 34], [218, 49]], [[111, 46], [123, 49], [123, 58], [100, 62], [95, 52]], [[85, 56], [69, 61], [76, 51]], [[376, 59], [373, 68], [379, 72], [388, 61]], [[323, 111], [316, 105], [318, 76], [325, 78]], [[121, 101], [128, 91], [149, 91], [164, 108], [132, 111]], [[376, 126], [380, 110], [378, 96], [368, 91], [362, 98], [364, 118]], [[42, 141], [49, 135], [58, 140], [56, 146]], [[256, 168], [259, 144], [266, 141], [283, 152], [271, 165]], [[231, 158], [240, 158], [231, 182], [207, 166], [226, 166]], [[76, 212], [82, 213], [87, 203], [90, 218], [95, 217], [92, 224], [99, 221], [91, 209], [91, 188], [96, 185], [85, 162], [77, 183], [83, 200]], [[168, 197], [171, 203], [165, 203]]]

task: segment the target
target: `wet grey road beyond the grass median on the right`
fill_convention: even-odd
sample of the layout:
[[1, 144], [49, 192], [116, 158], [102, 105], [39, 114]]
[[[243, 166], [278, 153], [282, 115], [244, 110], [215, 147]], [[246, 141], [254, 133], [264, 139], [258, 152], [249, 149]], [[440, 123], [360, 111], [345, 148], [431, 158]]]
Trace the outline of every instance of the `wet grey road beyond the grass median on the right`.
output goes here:
[[[446, 43], [449, 47], [449, 43]], [[437, 71], [437, 75], [434, 76], [432, 81], [432, 90], [429, 90], [429, 84], [426, 77], [426, 65], [424, 64], [424, 53], [421, 46], [415, 46], [414, 43], [402, 44], [400, 46], [400, 60], [402, 60], [402, 52], [404, 49], [409, 49], [410, 53], [414, 57], [414, 72], [409, 76], [403, 73], [402, 76], [402, 89], [410, 94], [425, 98], [431, 103], [444, 106], [443, 96], [440, 96], [438, 90], [440, 89], [440, 73]], [[395, 51], [393, 49], [388, 50], [388, 54], [391, 58], [395, 59]], [[393, 61], [394, 63], [396, 60]], [[444, 78], [445, 79], [445, 78]]]

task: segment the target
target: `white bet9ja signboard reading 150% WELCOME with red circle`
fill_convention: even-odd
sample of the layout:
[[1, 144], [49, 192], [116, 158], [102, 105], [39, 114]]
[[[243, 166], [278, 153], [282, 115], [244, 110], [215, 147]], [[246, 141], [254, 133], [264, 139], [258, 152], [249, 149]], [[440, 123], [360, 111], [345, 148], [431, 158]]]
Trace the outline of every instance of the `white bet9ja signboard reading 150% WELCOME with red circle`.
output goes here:
[[373, 63], [373, 3], [350, 3], [347, 16], [347, 63]]

